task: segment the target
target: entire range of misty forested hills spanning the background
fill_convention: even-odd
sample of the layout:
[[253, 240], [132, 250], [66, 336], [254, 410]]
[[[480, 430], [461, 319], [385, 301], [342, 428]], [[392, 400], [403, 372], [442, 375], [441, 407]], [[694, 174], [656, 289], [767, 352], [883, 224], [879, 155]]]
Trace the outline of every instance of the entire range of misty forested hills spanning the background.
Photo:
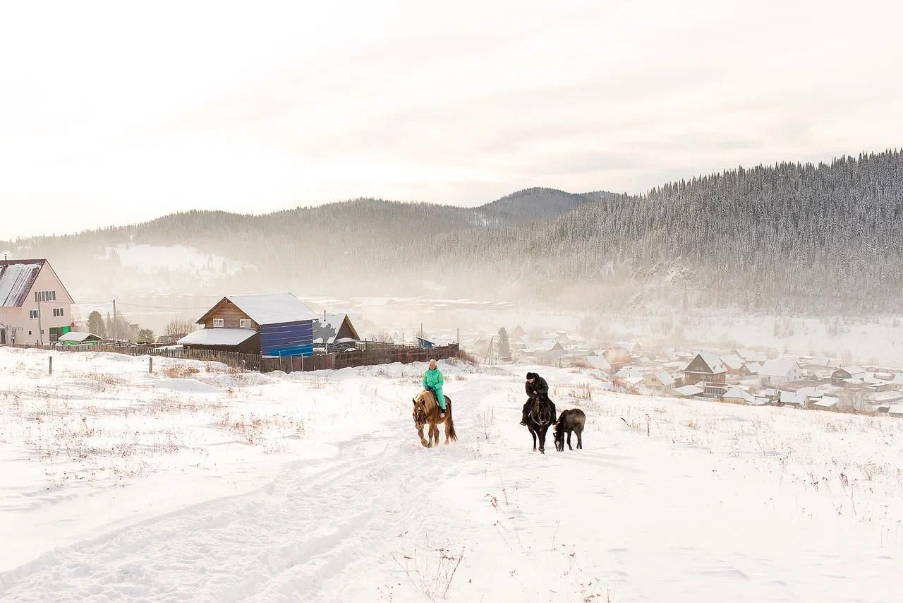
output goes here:
[[[190, 269], [135, 268], [134, 253], [131, 267], [120, 261], [173, 245], [200, 258]], [[903, 156], [739, 168], [637, 196], [528, 189], [478, 208], [363, 199], [263, 216], [185, 212], [2, 249], [51, 258], [101, 298], [126, 287], [291, 290], [899, 313]]]

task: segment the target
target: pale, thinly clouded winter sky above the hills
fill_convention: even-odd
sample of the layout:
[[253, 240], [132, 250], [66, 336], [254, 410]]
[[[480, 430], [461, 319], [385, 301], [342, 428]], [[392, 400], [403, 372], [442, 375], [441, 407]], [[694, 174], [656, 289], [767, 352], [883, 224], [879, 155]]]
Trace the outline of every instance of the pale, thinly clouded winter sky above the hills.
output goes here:
[[45, 3], [0, 20], [0, 240], [167, 212], [643, 192], [903, 144], [897, 2]]

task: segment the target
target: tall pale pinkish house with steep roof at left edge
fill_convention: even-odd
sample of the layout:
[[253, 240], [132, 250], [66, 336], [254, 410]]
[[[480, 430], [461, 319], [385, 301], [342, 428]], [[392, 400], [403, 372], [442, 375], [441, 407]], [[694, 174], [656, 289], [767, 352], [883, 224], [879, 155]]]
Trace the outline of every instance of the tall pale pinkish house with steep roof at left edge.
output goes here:
[[72, 297], [47, 259], [0, 260], [0, 344], [51, 344], [72, 330]]

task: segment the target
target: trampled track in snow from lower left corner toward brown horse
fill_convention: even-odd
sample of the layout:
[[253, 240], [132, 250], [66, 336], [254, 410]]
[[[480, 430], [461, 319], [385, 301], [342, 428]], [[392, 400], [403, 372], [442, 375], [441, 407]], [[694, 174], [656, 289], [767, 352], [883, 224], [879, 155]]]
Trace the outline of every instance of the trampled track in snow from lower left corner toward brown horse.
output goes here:
[[0, 598], [48, 600], [52, 583], [50, 600], [320, 600], [324, 580], [386, 546], [388, 526], [418, 521], [411, 501], [445, 470], [403, 423], [247, 495], [52, 551], [0, 574]]

